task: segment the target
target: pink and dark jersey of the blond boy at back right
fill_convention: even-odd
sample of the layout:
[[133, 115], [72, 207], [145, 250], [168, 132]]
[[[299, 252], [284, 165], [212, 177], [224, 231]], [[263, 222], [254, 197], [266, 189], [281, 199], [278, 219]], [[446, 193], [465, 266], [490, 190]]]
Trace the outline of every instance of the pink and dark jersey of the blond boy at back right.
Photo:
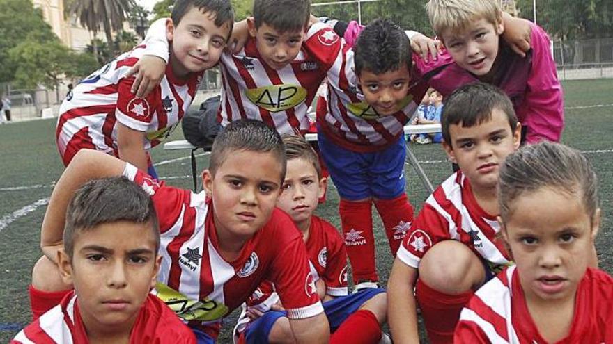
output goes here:
[[[344, 38], [353, 45], [362, 26], [350, 22]], [[502, 42], [498, 56], [499, 69], [492, 77], [492, 85], [509, 96], [518, 119], [527, 126], [527, 142], [540, 140], [559, 142], [564, 129], [564, 97], [557, 78], [550, 40], [541, 26], [532, 24], [531, 49], [522, 58]], [[447, 51], [437, 60], [426, 63], [414, 55], [415, 67], [432, 88], [444, 97], [462, 85], [479, 81], [473, 74], [453, 62]]]

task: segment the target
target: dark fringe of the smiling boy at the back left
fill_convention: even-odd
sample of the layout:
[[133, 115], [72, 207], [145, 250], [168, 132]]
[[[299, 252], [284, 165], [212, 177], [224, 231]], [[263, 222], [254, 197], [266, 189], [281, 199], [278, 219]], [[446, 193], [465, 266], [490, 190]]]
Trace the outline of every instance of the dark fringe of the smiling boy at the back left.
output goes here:
[[228, 23], [232, 31], [234, 10], [230, 0], [176, 0], [171, 14], [173, 24], [177, 26], [185, 13], [192, 8], [198, 8], [202, 13], [212, 13], [215, 15], [215, 26], [221, 27]]

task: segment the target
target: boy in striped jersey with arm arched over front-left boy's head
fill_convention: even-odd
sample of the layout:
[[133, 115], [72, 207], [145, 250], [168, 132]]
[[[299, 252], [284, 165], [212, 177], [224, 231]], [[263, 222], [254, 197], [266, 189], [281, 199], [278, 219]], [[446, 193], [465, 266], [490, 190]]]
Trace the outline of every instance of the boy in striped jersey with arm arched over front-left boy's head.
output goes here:
[[199, 343], [213, 343], [222, 318], [264, 279], [277, 287], [297, 343], [325, 343], [328, 322], [302, 238], [274, 207], [285, 170], [281, 137], [254, 120], [233, 122], [217, 136], [203, 172], [205, 191], [198, 194], [157, 183], [112, 156], [81, 151], [54, 188], [42, 227], [45, 269], [35, 266], [33, 275], [47, 281], [52, 276], [49, 259], [63, 227], [58, 214], [71, 190], [91, 178], [124, 175], [149, 193], [160, 215], [162, 265], [155, 293]]

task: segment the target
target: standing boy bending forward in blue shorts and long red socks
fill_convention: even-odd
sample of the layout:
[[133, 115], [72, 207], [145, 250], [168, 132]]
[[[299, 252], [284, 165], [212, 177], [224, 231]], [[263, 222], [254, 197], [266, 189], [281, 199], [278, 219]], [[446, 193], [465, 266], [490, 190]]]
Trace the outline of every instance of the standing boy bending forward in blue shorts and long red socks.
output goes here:
[[[372, 204], [393, 255], [413, 220], [405, 193], [403, 126], [426, 94], [409, 39], [387, 19], [362, 31], [353, 54], [328, 72], [317, 108], [318, 143], [341, 196], [339, 213], [356, 288], [377, 287]], [[416, 81], [417, 80], [417, 81]]]

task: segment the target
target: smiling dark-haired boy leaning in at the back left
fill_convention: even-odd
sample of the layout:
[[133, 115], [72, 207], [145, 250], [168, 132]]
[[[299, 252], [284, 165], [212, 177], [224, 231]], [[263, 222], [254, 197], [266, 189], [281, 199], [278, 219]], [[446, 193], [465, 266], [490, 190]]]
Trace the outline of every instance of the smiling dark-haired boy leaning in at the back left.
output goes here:
[[126, 72], [146, 46], [118, 56], [63, 101], [56, 128], [64, 165], [80, 149], [104, 151], [156, 177], [147, 150], [168, 137], [192, 103], [205, 69], [217, 64], [233, 25], [228, 0], [178, 0], [164, 35], [171, 41], [162, 83], [146, 98]]

